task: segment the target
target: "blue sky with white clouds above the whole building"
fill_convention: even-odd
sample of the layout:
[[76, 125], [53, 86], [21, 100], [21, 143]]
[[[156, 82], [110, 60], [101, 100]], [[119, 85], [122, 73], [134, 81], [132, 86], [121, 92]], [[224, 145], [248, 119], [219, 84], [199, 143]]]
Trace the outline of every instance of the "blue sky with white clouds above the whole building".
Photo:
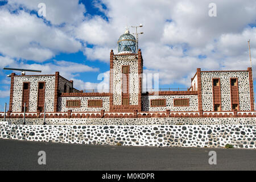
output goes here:
[[110, 50], [126, 26], [141, 23], [144, 73], [159, 73], [159, 88], [190, 87], [196, 68], [246, 70], [249, 39], [256, 70], [256, 1], [0, 0], [0, 111], [12, 72], [3, 67], [59, 71], [79, 90], [108, 86]]

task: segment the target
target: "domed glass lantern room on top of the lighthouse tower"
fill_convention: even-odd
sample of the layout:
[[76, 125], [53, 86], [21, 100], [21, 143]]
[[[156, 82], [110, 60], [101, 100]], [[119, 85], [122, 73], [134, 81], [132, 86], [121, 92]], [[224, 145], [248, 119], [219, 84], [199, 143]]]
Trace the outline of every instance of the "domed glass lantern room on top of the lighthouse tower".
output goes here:
[[136, 53], [136, 39], [130, 34], [129, 30], [121, 35], [118, 42], [118, 54], [120, 53]]

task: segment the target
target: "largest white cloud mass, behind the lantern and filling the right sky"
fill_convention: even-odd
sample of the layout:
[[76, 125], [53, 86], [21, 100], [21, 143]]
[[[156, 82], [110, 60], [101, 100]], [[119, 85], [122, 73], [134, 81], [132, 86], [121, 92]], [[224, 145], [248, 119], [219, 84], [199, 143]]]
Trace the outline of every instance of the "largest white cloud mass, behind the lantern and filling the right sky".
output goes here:
[[[107, 10], [100, 10], [109, 21], [100, 16], [90, 17], [76, 32], [84, 42], [94, 45], [85, 48], [88, 59], [108, 61], [104, 55], [117, 47], [116, 42], [126, 24], [142, 23], [139, 31], [144, 34], [139, 36], [139, 47], [146, 69], [159, 72], [161, 84], [176, 82], [189, 86], [196, 68], [247, 69], [250, 66], [247, 39], [251, 38], [251, 55], [256, 52], [255, 28], [248, 26], [256, 23], [255, 3], [217, 0], [214, 1], [217, 17], [210, 17], [208, 5], [211, 2], [97, 1], [98, 7], [101, 3], [107, 7]], [[88, 34], [81, 36], [80, 31], [85, 30]], [[132, 28], [130, 31], [134, 32]]]

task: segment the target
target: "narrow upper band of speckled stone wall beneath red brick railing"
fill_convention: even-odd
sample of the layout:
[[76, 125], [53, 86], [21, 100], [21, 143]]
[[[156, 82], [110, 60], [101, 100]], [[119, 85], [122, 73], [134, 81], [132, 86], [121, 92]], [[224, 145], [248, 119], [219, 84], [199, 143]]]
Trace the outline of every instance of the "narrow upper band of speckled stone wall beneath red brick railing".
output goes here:
[[[0, 122], [3, 119], [0, 119]], [[22, 125], [23, 118], [6, 119]], [[255, 118], [46, 118], [47, 125], [256, 125]], [[43, 125], [43, 118], [26, 119], [26, 125]]]

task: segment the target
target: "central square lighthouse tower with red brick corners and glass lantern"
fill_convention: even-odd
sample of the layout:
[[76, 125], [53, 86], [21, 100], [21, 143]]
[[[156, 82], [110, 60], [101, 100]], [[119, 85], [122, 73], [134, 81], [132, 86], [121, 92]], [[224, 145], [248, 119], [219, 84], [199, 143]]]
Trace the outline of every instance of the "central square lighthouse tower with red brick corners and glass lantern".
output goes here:
[[143, 59], [129, 30], [118, 39], [118, 53], [110, 52], [110, 111], [141, 111]]

